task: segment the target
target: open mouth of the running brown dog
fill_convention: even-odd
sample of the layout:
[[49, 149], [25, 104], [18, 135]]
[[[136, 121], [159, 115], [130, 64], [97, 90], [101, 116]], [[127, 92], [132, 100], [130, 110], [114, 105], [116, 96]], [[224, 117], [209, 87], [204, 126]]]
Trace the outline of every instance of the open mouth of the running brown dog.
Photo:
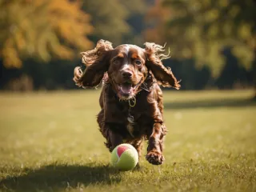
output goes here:
[[133, 85], [130, 82], [124, 82], [122, 84], [117, 84], [118, 88], [118, 97], [122, 99], [133, 98], [136, 94], [138, 86], [141, 84], [142, 80], [139, 81], [136, 85]]

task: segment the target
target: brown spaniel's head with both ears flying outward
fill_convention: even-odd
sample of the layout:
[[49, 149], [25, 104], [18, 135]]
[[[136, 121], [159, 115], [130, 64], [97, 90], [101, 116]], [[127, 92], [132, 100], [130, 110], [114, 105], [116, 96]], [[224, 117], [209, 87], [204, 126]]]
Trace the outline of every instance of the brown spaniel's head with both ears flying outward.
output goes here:
[[166, 58], [163, 47], [146, 42], [146, 48], [134, 45], [121, 45], [113, 48], [110, 42], [100, 40], [94, 50], [82, 53], [82, 62], [86, 70], [79, 67], [74, 70], [74, 82], [78, 86], [97, 86], [107, 72], [108, 81], [118, 94], [118, 98], [130, 99], [137, 93], [146, 77], [152, 72], [159, 85], [179, 89], [177, 79], [170, 69], [162, 65]]

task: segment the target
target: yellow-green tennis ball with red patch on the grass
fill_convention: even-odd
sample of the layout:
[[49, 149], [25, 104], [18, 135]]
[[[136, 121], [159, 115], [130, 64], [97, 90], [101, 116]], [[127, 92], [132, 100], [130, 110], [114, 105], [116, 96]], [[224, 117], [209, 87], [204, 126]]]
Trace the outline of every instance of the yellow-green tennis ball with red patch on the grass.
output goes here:
[[132, 170], [137, 163], [138, 152], [130, 144], [123, 143], [112, 151], [111, 164], [118, 170]]

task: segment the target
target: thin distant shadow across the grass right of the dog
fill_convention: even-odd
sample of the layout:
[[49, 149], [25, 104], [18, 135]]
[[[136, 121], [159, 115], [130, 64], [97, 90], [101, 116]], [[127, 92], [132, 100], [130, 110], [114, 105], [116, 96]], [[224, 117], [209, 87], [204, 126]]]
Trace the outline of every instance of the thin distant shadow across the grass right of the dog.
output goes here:
[[194, 108], [217, 108], [217, 107], [246, 107], [256, 106], [256, 101], [245, 98], [204, 99], [185, 102], [165, 103], [165, 109], [194, 109]]

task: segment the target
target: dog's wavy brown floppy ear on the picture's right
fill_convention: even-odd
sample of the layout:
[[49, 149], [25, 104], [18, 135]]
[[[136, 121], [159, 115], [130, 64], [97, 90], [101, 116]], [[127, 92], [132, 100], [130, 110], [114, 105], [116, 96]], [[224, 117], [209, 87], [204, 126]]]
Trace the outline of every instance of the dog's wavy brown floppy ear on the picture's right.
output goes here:
[[181, 87], [179, 85], [180, 81], [177, 81], [170, 68], [167, 69], [161, 61], [162, 59], [169, 58], [168, 55], [158, 54], [158, 52], [164, 51], [164, 46], [159, 46], [154, 42], [146, 42], [144, 45], [147, 58], [146, 66], [152, 71], [158, 84], [168, 87], [171, 86], [178, 90]]

